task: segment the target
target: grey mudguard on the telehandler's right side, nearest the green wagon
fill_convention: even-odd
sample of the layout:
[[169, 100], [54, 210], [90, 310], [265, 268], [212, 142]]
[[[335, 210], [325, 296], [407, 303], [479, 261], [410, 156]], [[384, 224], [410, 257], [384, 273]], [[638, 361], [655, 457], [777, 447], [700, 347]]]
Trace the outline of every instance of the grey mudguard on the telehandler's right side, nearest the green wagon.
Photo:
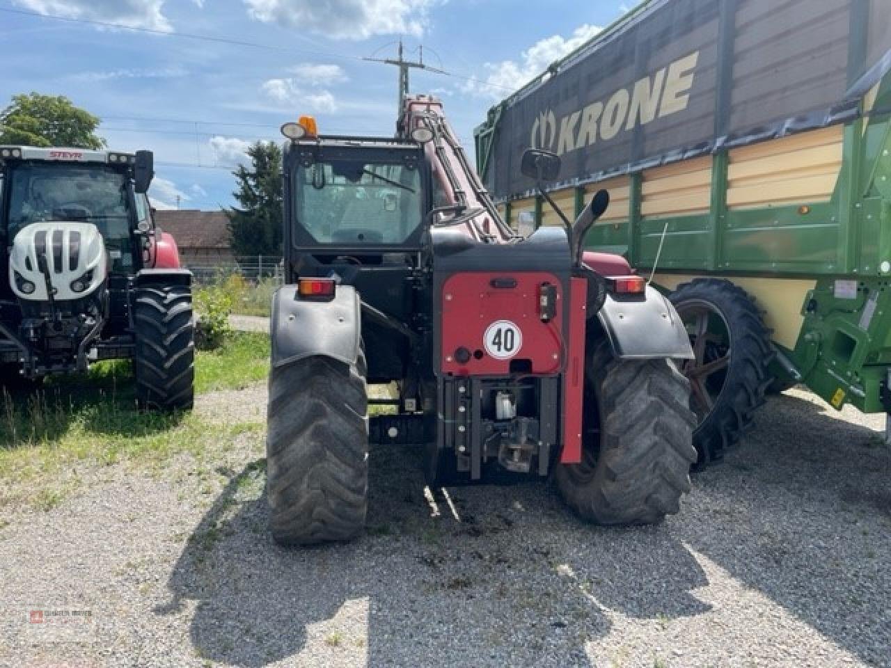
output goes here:
[[649, 285], [644, 297], [608, 294], [597, 313], [613, 354], [622, 360], [692, 359], [690, 337], [672, 303]]

